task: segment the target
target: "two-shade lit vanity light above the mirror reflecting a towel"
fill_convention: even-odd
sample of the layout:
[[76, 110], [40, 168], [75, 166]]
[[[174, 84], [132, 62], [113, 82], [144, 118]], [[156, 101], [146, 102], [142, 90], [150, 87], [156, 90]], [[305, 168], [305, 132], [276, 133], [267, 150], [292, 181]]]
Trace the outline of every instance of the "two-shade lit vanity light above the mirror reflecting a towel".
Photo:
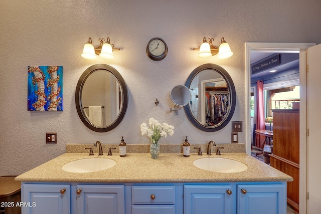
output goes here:
[[114, 55], [112, 51], [119, 51], [119, 48], [113, 48], [114, 44], [110, 44], [110, 39], [107, 37], [107, 41], [104, 43], [105, 39], [99, 39], [100, 42], [99, 46], [94, 48], [92, 45], [92, 40], [89, 37], [88, 42], [84, 46], [84, 50], [81, 56], [88, 60], [95, 60], [97, 59], [97, 55], [106, 58], [106, 59], [113, 59]]

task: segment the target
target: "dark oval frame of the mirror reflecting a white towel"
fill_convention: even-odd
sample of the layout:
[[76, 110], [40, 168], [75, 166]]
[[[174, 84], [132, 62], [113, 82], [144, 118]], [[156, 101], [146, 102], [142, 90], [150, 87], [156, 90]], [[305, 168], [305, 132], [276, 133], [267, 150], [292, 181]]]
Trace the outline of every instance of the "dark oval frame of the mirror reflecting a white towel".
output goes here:
[[[83, 111], [83, 106], [81, 104], [81, 93], [82, 93], [83, 85], [86, 82], [86, 79], [93, 72], [95, 72], [97, 70], [106, 70], [108, 72], [111, 72], [117, 78], [119, 85], [122, 89], [122, 97], [123, 97], [122, 103], [123, 104], [122, 104], [121, 110], [119, 111], [119, 115], [118, 115], [117, 119], [112, 124], [105, 126], [105, 127], [97, 127], [93, 123], [91, 123], [87, 119], [87, 117], [85, 116], [84, 111]], [[110, 130], [114, 129], [115, 127], [117, 127], [119, 125], [119, 123], [122, 121], [123, 117], [125, 116], [125, 113], [127, 110], [127, 105], [128, 105], [127, 86], [126, 86], [124, 79], [122, 78], [122, 76], [119, 74], [119, 72], [116, 69], [114, 69], [113, 67], [111, 67], [109, 65], [96, 64], [96, 65], [93, 65], [93, 66], [90, 66], [89, 68], [87, 68], [84, 71], [84, 73], [80, 76], [78, 83], [77, 83], [77, 87], [76, 87], [75, 101], [76, 101], [76, 109], [77, 109], [77, 113], [79, 115], [79, 118], [89, 129], [96, 131], [96, 132], [107, 132], [107, 131], [110, 131]]]

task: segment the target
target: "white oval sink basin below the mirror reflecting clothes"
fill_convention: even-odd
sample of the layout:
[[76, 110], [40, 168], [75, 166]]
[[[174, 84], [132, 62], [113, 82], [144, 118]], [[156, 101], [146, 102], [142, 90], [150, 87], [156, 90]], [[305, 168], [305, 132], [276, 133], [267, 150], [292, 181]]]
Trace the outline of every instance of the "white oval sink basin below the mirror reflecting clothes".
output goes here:
[[204, 170], [214, 172], [240, 172], [247, 169], [247, 166], [237, 160], [220, 158], [220, 157], [207, 157], [194, 160], [193, 164]]

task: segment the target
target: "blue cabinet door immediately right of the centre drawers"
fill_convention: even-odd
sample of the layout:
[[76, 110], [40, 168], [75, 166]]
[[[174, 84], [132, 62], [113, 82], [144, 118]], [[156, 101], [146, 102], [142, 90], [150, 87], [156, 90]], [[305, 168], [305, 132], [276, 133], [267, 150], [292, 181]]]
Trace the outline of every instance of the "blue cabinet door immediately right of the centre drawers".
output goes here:
[[184, 213], [236, 213], [235, 185], [184, 185]]

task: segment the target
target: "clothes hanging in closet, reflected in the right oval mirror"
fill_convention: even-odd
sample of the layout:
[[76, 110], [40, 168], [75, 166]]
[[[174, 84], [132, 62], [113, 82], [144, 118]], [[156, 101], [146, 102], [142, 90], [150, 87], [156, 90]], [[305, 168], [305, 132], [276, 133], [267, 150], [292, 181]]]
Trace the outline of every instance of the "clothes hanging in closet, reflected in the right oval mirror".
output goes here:
[[228, 92], [209, 91], [205, 93], [205, 96], [206, 125], [213, 126], [225, 116], [229, 104], [229, 94]]

